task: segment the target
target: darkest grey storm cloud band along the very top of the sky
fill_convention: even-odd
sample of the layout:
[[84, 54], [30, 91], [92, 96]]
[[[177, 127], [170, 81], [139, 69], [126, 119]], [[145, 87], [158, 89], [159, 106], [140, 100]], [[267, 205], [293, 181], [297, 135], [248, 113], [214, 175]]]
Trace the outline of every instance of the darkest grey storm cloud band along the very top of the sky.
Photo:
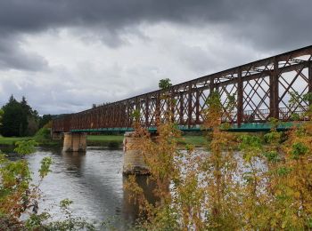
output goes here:
[[0, 6], [4, 34], [70, 26], [116, 32], [139, 22], [165, 20], [226, 24], [238, 36], [267, 47], [295, 38], [307, 42], [311, 36], [310, 0], [2, 0]]

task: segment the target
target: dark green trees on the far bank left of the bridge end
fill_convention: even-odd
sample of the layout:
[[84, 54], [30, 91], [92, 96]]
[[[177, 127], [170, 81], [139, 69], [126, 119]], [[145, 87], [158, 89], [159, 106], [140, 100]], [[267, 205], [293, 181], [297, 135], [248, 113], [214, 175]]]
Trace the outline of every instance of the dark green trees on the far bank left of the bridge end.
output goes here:
[[39, 116], [24, 96], [18, 101], [11, 95], [0, 109], [0, 134], [5, 137], [33, 136], [52, 118], [52, 115]]

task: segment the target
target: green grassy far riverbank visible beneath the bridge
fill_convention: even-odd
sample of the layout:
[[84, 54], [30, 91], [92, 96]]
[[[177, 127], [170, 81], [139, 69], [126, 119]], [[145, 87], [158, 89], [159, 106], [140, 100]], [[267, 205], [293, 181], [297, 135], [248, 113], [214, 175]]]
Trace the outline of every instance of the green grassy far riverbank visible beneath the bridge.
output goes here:
[[[0, 136], [0, 146], [14, 146], [17, 141], [35, 139], [38, 146], [58, 147], [62, 146], [61, 140], [37, 139], [36, 137], [2, 137]], [[123, 135], [88, 135], [86, 138], [87, 146], [93, 147], [121, 147]], [[178, 140], [178, 144], [184, 146], [192, 144], [195, 147], [203, 147], [205, 139], [202, 136], [185, 135]]]

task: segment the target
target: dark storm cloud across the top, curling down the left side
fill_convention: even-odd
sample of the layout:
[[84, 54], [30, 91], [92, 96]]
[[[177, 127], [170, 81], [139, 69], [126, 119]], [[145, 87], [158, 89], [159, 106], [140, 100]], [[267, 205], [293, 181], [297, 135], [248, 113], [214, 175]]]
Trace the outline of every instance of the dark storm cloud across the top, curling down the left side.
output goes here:
[[142, 22], [219, 25], [229, 40], [241, 38], [265, 51], [291, 50], [310, 43], [310, 9], [310, 0], [0, 0], [0, 68], [47, 65], [42, 57], [21, 51], [21, 35], [83, 28], [92, 33], [82, 38], [100, 38], [114, 48], [127, 43], [120, 36], [125, 30], [137, 34], [131, 28]]

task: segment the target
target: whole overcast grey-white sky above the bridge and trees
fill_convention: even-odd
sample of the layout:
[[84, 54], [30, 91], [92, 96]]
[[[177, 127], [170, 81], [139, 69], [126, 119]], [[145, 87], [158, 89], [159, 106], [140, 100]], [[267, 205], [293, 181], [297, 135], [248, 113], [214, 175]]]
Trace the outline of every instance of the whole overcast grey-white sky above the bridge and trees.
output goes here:
[[311, 0], [0, 0], [0, 107], [78, 112], [312, 44]]

